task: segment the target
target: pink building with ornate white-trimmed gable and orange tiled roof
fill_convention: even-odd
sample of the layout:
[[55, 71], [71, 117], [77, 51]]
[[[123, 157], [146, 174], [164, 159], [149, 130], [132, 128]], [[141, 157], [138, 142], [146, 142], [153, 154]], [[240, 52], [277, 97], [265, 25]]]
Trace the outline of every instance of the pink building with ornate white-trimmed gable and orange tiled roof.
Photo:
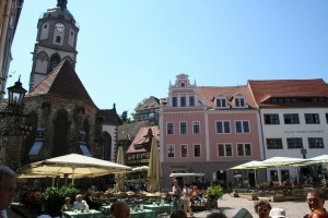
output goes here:
[[[263, 158], [260, 121], [247, 85], [230, 87], [191, 85], [179, 74], [169, 84], [168, 97], [161, 101], [160, 142], [163, 174], [202, 172], [203, 178], [177, 178], [191, 183], [216, 181], [254, 185], [255, 174], [230, 168]], [[239, 178], [244, 178], [241, 180]], [[169, 190], [174, 178], [163, 178]]]

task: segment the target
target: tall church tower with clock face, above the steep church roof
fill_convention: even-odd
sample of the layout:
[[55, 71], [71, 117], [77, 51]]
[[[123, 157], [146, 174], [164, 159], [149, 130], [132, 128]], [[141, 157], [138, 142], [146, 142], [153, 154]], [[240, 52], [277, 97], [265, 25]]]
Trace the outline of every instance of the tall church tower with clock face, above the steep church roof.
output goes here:
[[57, 0], [57, 7], [48, 9], [37, 23], [30, 92], [61, 61], [68, 60], [75, 69], [78, 33], [79, 27], [67, 9], [67, 0]]

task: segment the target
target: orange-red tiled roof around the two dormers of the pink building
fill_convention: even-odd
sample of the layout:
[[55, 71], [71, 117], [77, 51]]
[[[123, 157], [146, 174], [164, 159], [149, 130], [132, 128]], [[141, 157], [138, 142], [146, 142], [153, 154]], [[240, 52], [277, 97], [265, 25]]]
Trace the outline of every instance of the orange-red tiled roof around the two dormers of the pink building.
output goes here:
[[256, 108], [256, 102], [251, 96], [249, 87], [247, 85], [239, 86], [226, 86], [226, 87], [216, 87], [216, 86], [198, 86], [197, 87], [198, 100], [201, 105], [207, 106], [209, 109], [215, 106], [215, 97], [226, 96], [229, 105], [232, 105], [233, 96], [241, 94], [245, 96], [246, 104], [249, 108]]

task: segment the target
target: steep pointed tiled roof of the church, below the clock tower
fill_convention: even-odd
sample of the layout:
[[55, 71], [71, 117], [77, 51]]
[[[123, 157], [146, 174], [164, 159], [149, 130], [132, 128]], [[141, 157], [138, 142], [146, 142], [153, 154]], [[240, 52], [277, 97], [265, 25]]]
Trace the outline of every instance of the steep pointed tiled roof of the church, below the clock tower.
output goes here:
[[97, 108], [68, 60], [63, 60], [59, 63], [48, 76], [26, 96], [33, 97], [39, 95], [77, 99]]

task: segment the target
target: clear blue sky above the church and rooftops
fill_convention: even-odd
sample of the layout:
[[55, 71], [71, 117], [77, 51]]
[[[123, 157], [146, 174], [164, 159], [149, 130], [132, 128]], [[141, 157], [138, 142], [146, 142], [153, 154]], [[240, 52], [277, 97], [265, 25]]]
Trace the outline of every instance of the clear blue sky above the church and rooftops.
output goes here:
[[[12, 85], [27, 89], [37, 21], [57, 0], [25, 0]], [[328, 82], [327, 0], [68, 0], [80, 32], [77, 73], [101, 109], [129, 114], [167, 97], [180, 73], [199, 86], [248, 80]]]

